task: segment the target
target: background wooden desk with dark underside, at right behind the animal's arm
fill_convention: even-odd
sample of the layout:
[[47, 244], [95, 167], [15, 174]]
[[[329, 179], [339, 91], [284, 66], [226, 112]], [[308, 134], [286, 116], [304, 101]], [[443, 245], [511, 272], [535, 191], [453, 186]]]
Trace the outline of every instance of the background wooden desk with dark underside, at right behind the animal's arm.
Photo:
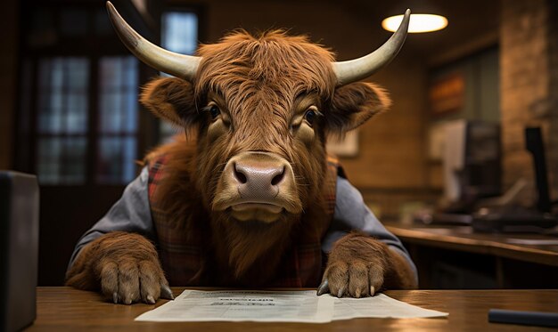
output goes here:
[[[419, 266], [421, 287], [439, 287], [428, 273], [436, 260], [446, 255], [455, 265], [494, 267], [495, 284], [500, 288], [558, 287], [558, 245], [525, 245], [513, 239], [558, 239], [538, 234], [479, 233], [468, 226], [428, 226], [385, 223], [401, 239]], [[459, 255], [456, 255], [459, 254]], [[463, 255], [462, 255], [463, 254]], [[466, 255], [470, 254], [470, 255]], [[441, 257], [440, 260], [444, 260]], [[471, 262], [468, 262], [471, 261]], [[463, 285], [459, 286], [464, 287]]]

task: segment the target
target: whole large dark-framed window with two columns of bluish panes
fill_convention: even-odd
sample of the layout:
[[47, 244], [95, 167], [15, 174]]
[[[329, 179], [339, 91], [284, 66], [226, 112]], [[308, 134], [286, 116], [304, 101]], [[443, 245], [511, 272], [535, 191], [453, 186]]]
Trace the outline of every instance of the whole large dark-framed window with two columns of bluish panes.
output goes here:
[[19, 168], [42, 185], [131, 181], [138, 61], [112, 33], [103, 6], [37, 5], [30, 17], [20, 117], [29, 149], [16, 156]]

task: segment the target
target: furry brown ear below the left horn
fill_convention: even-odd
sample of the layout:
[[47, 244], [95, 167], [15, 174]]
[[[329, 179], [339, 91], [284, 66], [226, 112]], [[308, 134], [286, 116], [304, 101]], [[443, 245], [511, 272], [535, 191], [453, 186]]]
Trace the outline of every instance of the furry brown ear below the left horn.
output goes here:
[[193, 125], [198, 117], [193, 99], [193, 86], [175, 77], [155, 78], [144, 85], [140, 101], [157, 117], [183, 127]]

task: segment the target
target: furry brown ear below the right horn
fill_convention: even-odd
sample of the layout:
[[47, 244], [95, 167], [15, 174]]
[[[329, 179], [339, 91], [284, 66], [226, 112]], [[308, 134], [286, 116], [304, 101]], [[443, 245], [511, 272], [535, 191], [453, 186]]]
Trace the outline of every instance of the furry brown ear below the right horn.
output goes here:
[[390, 105], [388, 93], [377, 85], [365, 82], [343, 85], [333, 94], [331, 109], [325, 115], [326, 131], [345, 134]]

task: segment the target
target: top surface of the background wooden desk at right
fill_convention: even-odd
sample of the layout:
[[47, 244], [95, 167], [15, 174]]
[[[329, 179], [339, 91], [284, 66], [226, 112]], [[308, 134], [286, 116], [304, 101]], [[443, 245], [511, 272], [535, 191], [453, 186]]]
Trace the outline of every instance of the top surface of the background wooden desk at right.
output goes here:
[[556, 237], [529, 233], [480, 233], [472, 231], [470, 226], [402, 223], [385, 223], [385, 226], [399, 239], [412, 244], [558, 266], [558, 245], [513, 243], [514, 239], [558, 240]]

